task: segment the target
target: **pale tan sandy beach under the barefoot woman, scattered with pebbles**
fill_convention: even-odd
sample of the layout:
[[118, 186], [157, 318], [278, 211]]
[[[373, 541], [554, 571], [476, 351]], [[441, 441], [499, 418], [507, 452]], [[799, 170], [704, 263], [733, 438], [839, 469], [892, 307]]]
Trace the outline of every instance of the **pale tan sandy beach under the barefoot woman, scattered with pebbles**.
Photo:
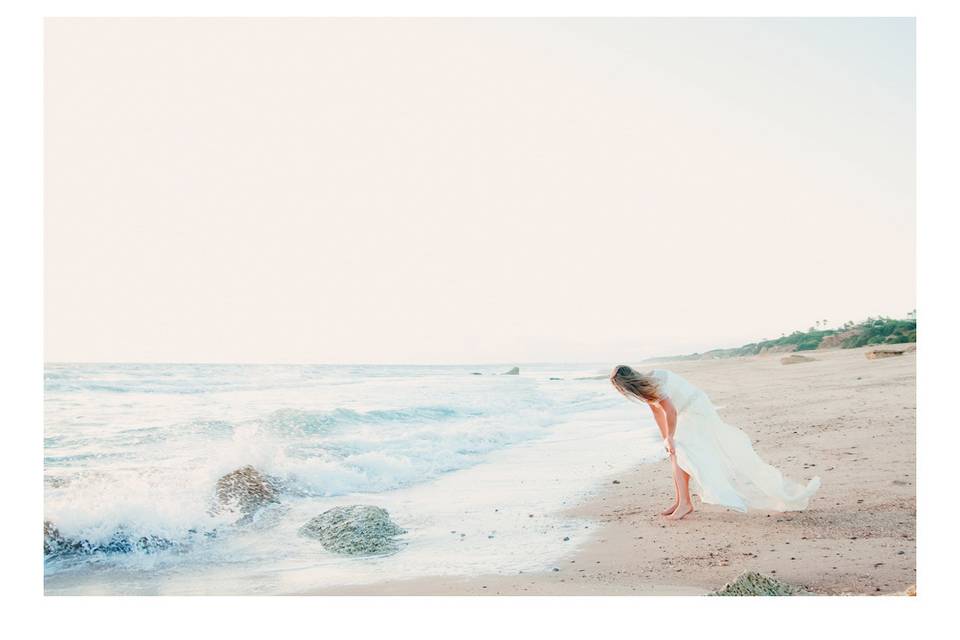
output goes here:
[[819, 594], [903, 593], [916, 583], [916, 354], [868, 360], [865, 351], [817, 351], [790, 366], [777, 354], [656, 365], [706, 390], [788, 476], [819, 475], [806, 511], [739, 514], [697, 501], [688, 518], [666, 521], [657, 514], [673, 497], [668, 463], [639, 465], [571, 511], [603, 526], [559, 571], [320, 593], [703, 594], [744, 571]]

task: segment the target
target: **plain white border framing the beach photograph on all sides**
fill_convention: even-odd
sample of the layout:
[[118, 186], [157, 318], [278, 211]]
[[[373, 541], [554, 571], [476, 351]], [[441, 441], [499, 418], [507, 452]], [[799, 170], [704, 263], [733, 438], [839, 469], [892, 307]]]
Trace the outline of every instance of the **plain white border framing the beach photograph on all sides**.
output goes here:
[[[10, 11], [9, 5], [4, 12]], [[924, 338], [918, 393], [918, 598], [44, 598], [42, 520], [42, 37], [43, 16], [468, 15], [468, 16], [887, 16], [916, 15], [918, 43], [918, 308]], [[956, 582], [945, 472], [954, 464], [958, 420], [948, 406], [957, 341], [957, 100], [960, 25], [950, 3], [866, 1], [706, 2], [45, 2], [22, 3], [0, 22], [4, 98], [0, 273], [6, 302], [0, 397], [4, 487], [3, 581], [13, 633], [44, 637], [331, 637], [401, 635], [603, 637], [670, 633], [808, 638], [912, 635], [943, 616]], [[904, 238], [904, 242], [909, 242]], [[949, 324], [948, 324], [949, 323]], [[932, 628], [931, 628], [932, 630]]]

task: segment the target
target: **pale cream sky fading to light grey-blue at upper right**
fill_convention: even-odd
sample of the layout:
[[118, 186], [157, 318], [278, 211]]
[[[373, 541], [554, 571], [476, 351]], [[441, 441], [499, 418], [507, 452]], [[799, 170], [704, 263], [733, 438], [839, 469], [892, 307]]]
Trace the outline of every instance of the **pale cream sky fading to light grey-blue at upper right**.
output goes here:
[[912, 19], [53, 19], [47, 361], [631, 362], [915, 307]]

